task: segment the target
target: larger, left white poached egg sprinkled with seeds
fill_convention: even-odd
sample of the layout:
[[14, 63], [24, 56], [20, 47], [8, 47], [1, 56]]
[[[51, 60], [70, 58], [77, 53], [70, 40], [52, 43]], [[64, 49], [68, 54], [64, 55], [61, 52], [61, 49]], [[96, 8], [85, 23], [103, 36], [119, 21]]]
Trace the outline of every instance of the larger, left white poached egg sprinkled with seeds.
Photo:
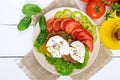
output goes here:
[[70, 52], [69, 44], [60, 36], [51, 37], [46, 44], [48, 52], [53, 57], [61, 58], [62, 55], [68, 55]]

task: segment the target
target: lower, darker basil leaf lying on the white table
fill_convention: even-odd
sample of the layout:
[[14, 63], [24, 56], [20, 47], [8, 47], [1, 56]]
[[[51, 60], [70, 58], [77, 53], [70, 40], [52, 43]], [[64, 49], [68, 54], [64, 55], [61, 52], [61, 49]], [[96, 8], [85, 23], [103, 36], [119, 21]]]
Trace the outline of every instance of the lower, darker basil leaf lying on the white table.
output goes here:
[[18, 30], [23, 31], [23, 30], [27, 29], [29, 27], [30, 23], [31, 23], [31, 17], [27, 16], [27, 17], [23, 18], [17, 26]]

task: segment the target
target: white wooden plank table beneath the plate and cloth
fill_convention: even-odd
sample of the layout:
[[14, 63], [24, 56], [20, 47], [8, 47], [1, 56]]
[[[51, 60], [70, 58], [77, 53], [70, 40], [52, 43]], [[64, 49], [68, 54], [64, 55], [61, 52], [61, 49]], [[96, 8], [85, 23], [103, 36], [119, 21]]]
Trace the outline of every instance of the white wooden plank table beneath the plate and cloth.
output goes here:
[[[16, 65], [32, 49], [33, 27], [19, 32], [17, 24], [23, 17], [21, 8], [25, 3], [35, 3], [41, 8], [52, 0], [1, 0], [0, 1], [0, 80], [29, 80]], [[120, 51], [112, 51], [112, 61], [90, 80], [120, 80]], [[99, 66], [99, 65], [98, 65]], [[71, 80], [69, 77], [61, 80]]]

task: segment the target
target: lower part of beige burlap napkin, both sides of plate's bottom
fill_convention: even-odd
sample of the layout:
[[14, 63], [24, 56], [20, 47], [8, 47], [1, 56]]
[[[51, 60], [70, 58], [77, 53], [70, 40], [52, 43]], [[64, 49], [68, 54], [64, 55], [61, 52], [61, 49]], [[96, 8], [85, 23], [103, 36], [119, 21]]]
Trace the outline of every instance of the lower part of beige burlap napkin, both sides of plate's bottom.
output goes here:
[[[84, 72], [71, 76], [72, 80], [88, 80], [111, 60], [111, 51], [102, 44], [95, 62]], [[59, 76], [48, 72], [36, 60], [30, 51], [19, 63], [19, 67], [31, 80], [56, 80]]]

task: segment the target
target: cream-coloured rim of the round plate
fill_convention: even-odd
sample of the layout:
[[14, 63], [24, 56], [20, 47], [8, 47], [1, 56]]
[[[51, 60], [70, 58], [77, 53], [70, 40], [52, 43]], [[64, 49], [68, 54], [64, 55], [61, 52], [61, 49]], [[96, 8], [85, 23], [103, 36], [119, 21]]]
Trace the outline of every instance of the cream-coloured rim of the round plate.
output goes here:
[[[46, 15], [46, 14], [48, 14], [49, 12], [52, 12], [52, 11], [58, 11], [58, 10], [63, 10], [63, 9], [72, 9], [72, 11], [75, 11], [75, 10], [77, 10], [77, 11], [80, 11], [84, 16], [86, 16], [89, 20], [90, 20], [90, 22], [92, 22], [92, 24], [94, 24], [95, 26], [96, 26], [96, 24], [93, 22], [93, 20], [86, 14], [86, 13], [84, 13], [83, 11], [81, 11], [81, 10], [79, 10], [79, 9], [77, 9], [77, 8], [72, 8], [72, 7], [60, 7], [60, 8], [55, 8], [55, 9], [52, 9], [52, 10], [50, 10], [50, 11], [48, 11], [47, 13], [45, 13], [44, 15]], [[36, 26], [38, 26], [38, 22], [37, 22], [37, 24], [36, 24]], [[36, 29], [36, 26], [35, 26], [35, 28], [34, 29]], [[40, 30], [40, 29], [38, 29], [38, 30]], [[100, 36], [99, 36], [99, 32], [98, 32], [98, 29], [97, 29], [97, 26], [96, 26], [96, 31], [97, 31], [97, 40], [96, 40], [96, 42], [98, 41], [98, 50], [97, 50], [97, 53], [96, 53], [96, 55], [95, 55], [95, 58], [94, 58], [94, 60], [92, 60], [92, 62], [89, 64], [89, 65], [86, 65], [84, 68], [82, 68], [82, 69], [76, 69], [76, 70], [81, 70], [80, 72], [78, 71], [78, 72], [76, 72], [76, 73], [71, 73], [70, 75], [75, 75], [75, 74], [78, 74], [78, 73], [81, 73], [81, 72], [83, 72], [83, 71], [85, 71], [88, 67], [90, 67], [92, 64], [93, 64], [93, 62], [95, 61], [95, 59], [96, 59], [96, 57], [98, 56], [98, 53], [99, 53], [99, 48], [100, 48]], [[33, 30], [33, 33], [34, 33], [34, 30]], [[40, 31], [39, 31], [39, 33], [40, 33]], [[34, 34], [33, 34], [34, 35]], [[32, 39], [33, 40], [33, 39]], [[36, 39], [35, 39], [36, 40]], [[96, 43], [95, 42], [95, 43]], [[32, 44], [34, 44], [34, 40], [32, 41]], [[95, 45], [95, 44], [94, 44]], [[33, 53], [34, 53], [34, 55], [35, 55], [35, 58], [37, 59], [37, 61], [38, 61], [38, 63], [43, 67], [43, 68], [45, 68], [47, 71], [49, 71], [49, 72], [51, 72], [51, 73], [53, 73], [53, 74], [56, 74], [56, 75], [60, 75], [57, 71], [56, 71], [56, 69], [55, 69], [55, 71], [56, 72], [53, 72], [53, 71], [51, 71], [50, 69], [48, 69], [48, 68], [46, 68], [45, 66], [43, 66], [42, 64], [41, 64], [41, 62], [39, 61], [39, 55], [40, 55], [40, 53], [37, 51], [37, 53], [36, 53], [36, 49], [35, 49], [35, 47], [33, 46]], [[89, 53], [89, 54], [95, 54], [95, 53]], [[42, 55], [43, 56], [43, 55]], [[45, 58], [45, 57], [44, 57]], [[89, 58], [90, 59], [90, 58]], [[45, 59], [46, 60], [46, 59]], [[46, 61], [47, 62], [47, 61]], [[88, 61], [89, 62], [89, 61]], [[48, 62], [47, 62], [48, 63]], [[48, 63], [49, 64], [49, 63]], [[53, 65], [51, 65], [51, 66], [53, 66]], [[75, 70], [75, 69], [74, 69]], [[73, 72], [74, 72], [74, 70], [73, 70]]]

